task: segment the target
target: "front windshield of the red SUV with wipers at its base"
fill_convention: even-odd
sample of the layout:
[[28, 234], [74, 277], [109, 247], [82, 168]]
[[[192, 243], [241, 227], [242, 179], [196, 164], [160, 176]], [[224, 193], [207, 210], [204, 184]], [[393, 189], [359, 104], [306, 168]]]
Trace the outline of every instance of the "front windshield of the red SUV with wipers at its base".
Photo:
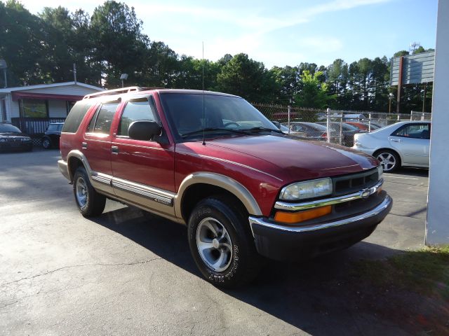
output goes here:
[[246, 130], [279, 132], [262, 113], [240, 97], [220, 94], [161, 93], [161, 102], [178, 141], [185, 137], [202, 137], [200, 131], [203, 127], [208, 130], [206, 136], [217, 132], [245, 134], [239, 131]]

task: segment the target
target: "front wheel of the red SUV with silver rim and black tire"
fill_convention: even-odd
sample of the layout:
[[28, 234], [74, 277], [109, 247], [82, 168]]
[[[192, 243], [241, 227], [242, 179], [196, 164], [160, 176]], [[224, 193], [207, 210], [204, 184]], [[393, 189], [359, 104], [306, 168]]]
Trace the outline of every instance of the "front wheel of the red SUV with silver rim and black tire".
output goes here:
[[255, 250], [248, 214], [230, 197], [199, 202], [189, 218], [188, 237], [196, 266], [214, 286], [241, 286], [260, 271], [262, 257]]

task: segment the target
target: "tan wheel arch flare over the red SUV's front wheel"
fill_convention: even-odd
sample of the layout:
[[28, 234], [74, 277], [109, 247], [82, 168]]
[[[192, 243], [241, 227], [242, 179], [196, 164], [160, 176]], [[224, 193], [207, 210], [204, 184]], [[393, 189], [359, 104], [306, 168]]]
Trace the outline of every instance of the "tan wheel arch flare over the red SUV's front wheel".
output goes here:
[[177, 191], [175, 196], [175, 214], [177, 218], [182, 218], [182, 197], [184, 196], [186, 190], [197, 183], [210, 184], [212, 186], [217, 186], [223, 188], [229, 193], [234, 194], [246, 207], [246, 210], [250, 215], [262, 216], [262, 211], [260, 211], [259, 204], [257, 204], [255, 198], [251, 193], [242, 186], [239, 182], [234, 179], [221, 174], [209, 173], [209, 172], [196, 172], [187, 176]]

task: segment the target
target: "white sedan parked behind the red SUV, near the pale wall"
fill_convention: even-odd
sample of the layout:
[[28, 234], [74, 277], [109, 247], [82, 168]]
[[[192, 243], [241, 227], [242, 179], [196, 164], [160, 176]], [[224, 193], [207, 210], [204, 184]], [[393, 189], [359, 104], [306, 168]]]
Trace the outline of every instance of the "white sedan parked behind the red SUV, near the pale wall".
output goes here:
[[429, 121], [402, 121], [371, 133], [354, 136], [352, 148], [373, 155], [384, 172], [401, 166], [429, 167]]

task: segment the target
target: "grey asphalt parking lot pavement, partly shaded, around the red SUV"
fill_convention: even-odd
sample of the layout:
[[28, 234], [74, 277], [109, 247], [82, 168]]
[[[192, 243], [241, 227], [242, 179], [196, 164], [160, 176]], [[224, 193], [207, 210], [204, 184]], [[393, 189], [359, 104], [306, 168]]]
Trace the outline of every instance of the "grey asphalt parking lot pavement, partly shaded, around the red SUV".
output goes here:
[[267, 262], [250, 286], [219, 290], [201, 278], [182, 225], [112, 201], [83, 218], [58, 158], [0, 155], [1, 335], [413, 333], [412, 320], [380, 314], [347, 270], [423, 246], [427, 170], [385, 174], [394, 207], [365, 241], [309, 262]]

